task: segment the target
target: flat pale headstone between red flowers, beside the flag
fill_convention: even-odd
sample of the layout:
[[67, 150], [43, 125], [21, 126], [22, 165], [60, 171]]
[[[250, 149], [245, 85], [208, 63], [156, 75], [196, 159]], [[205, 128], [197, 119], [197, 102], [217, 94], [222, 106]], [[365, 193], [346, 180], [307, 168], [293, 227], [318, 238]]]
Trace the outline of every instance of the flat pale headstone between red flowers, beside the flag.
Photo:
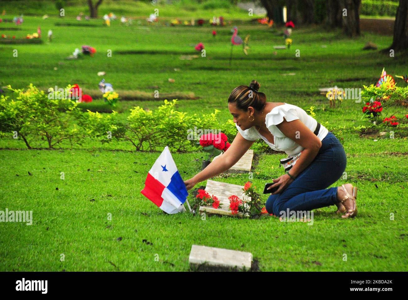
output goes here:
[[[205, 188], [205, 191], [211, 195], [214, 195], [220, 200], [220, 203], [223, 204], [222, 207], [215, 209], [214, 207], [211, 206], [200, 206], [200, 212], [205, 212], [205, 213], [215, 213], [218, 215], [224, 215], [224, 216], [233, 216], [230, 210], [228, 210], [229, 207], [229, 200], [228, 197], [235, 195], [238, 196], [239, 199], [244, 200], [244, 202], [250, 203], [251, 202], [251, 197], [246, 197], [244, 195], [244, 191], [242, 190], [244, 187], [241, 185], [237, 184], [231, 184], [231, 183], [225, 183], [225, 182], [220, 182], [220, 181], [213, 181], [213, 180], [207, 180], [207, 185]], [[234, 216], [238, 216], [240, 218], [248, 218], [249, 215], [243, 214], [241, 212], [237, 213]]]

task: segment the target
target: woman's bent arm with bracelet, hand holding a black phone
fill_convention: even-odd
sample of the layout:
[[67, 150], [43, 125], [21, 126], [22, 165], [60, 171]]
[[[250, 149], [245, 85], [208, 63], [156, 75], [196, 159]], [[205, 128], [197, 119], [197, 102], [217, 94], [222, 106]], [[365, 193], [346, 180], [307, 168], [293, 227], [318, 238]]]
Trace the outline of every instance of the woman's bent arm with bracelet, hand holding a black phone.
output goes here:
[[[282, 133], [295, 141], [297, 144], [304, 148], [302, 155], [299, 156], [296, 164], [290, 169], [290, 175], [297, 177], [308, 165], [313, 162], [317, 153], [319, 153], [322, 142], [320, 139], [305, 125], [301, 120], [286, 121], [277, 124], [276, 127], [282, 131]], [[273, 194], [281, 193], [293, 179], [288, 174], [284, 174], [277, 179], [274, 179], [275, 184], [271, 185], [269, 189], [279, 186], [277, 191]]]

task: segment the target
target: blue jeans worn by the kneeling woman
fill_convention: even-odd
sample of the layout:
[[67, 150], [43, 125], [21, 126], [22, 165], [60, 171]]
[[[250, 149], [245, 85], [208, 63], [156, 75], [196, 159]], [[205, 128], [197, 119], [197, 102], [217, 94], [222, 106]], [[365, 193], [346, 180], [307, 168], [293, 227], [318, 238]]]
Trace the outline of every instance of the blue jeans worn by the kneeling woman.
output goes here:
[[275, 216], [281, 211], [310, 211], [334, 205], [337, 187], [327, 189], [343, 175], [346, 169], [346, 153], [336, 136], [329, 132], [322, 140], [319, 153], [306, 169], [280, 194], [270, 195], [266, 210]]

